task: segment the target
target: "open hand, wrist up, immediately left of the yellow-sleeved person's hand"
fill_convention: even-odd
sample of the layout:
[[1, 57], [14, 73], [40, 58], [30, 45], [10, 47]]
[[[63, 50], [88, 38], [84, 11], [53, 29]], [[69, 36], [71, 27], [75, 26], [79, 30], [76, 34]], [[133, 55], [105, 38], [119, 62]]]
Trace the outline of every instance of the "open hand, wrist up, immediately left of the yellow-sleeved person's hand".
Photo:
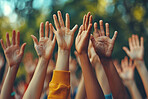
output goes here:
[[[49, 25], [50, 25], [50, 35], [49, 35]], [[53, 32], [51, 27], [52, 25], [49, 24], [49, 22], [47, 21], [45, 24], [45, 36], [44, 36], [44, 24], [43, 22], [40, 24], [39, 42], [34, 35], [31, 35], [38, 56], [43, 57], [47, 60], [52, 56], [56, 43], [56, 38], [53, 37]]]

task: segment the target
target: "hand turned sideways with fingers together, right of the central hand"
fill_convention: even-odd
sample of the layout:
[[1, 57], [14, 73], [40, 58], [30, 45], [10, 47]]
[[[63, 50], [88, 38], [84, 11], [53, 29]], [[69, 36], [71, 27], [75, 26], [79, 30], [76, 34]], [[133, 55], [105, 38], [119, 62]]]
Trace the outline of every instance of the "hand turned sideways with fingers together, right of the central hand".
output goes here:
[[75, 47], [78, 54], [87, 53], [91, 27], [92, 15], [90, 15], [89, 12], [87, 16], [84, 15], [83, 25], [80, 26], [78, 35], [76, 37]]

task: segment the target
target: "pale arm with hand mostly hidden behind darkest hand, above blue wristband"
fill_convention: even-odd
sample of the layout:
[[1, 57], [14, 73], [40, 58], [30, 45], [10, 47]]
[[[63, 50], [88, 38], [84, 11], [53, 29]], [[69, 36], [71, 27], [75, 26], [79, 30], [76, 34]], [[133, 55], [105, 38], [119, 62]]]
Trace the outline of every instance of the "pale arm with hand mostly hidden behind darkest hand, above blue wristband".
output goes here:
[[[94, 28], [96, 27], [95, 25], [97, 25], [97, 24], [94, 24]], [[97, 30], [95, 30], [95, 31], [97, 32]], [[96, 54], [96, 52], [95, 52], [95, 50], [92, 46], [91, 41], [89, 42], [88, 54], [90, 56], [91, 64], [95, 69], [98, 82], [100, 83], [100, 86], [103, 90], [104, 95], [111, 94], [111, 90], [110, 90], [110, 87], [109, 87], [108, 79], [106, 77], [104, 68], [103, 68], [103, 66], [100, 62], [99, 57], [97, 56], [97, 54]]]

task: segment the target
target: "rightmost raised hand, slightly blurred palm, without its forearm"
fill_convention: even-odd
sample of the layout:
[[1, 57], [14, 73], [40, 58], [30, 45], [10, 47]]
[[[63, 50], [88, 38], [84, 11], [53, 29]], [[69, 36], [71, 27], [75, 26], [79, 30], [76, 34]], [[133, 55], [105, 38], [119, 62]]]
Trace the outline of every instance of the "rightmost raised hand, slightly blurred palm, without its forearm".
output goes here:
[[139, 59], [143, 60], [144, 56], [144, 39], [140, 38], [141, 42], [139, 42], [138, 35], [132, 35], [129, 38], [129, 48], [123, 47], [123, 50], [131, 59]]

